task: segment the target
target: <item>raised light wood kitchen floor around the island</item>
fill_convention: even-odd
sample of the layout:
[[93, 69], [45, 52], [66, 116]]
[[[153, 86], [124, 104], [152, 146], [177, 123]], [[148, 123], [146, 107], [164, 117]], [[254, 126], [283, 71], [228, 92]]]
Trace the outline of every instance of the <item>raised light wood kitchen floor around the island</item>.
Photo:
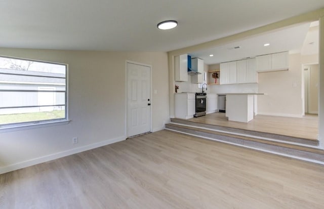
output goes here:
[[216, 126], [266, 132], [310, 140], [317, 140], [318, 135], [318, 116], [314, 114], [306, 114], [302, 118], [256, 115], [254, 119], [249, 122], [235, 122], [228, 121], [225, 113], [216, 112], [207, 114], [203, 117], [190, 118], [188, 120]]

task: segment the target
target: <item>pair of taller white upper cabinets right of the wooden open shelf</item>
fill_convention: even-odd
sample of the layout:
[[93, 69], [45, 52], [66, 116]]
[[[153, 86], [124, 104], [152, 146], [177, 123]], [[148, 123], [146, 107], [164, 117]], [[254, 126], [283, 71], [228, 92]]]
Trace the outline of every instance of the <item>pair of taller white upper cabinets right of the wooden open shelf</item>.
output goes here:
[[238, 60], [220, 64], [220, 84], [257, 82], [255, 59]]

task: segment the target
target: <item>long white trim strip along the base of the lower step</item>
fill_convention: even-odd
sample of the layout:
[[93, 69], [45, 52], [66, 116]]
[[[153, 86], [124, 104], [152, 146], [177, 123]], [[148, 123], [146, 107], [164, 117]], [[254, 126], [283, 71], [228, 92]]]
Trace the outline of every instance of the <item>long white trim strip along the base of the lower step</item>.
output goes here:
[[182, 133], [182, 134], [186, 134], [186, 135], [190, 135], [190, 136], [194, 136], [194, 137], [209, 139], [209, 140], [213, 140], [213, 141], [217, 141], [217, 142], [222, 142], [222, 143], [226, 143], [226, 144], [231, 144], [231, 145], [235, 145], [235, 146], [239, 146], [239, 147], [246, 147], [246, 148], [249, 148], [249, 149], [259, 150], [259, 151], [262, 151], [262, 152], [277, 154], [277, 155], [281, 155], [281, 156], [285, 156], [285, 157], [291, 157], [291, 158], [295, 158], [295, 159], [299, 159], [299, 160], [304, 160], [304, 161], [314, 162], [314, 163], [318, 163], [318, 164], [324, 165], [324, 162], [319, 161], [319, 160], [313, 160], [313, 159], [309, 159], [309, 158], [298, 157], [298, 156], [295, 156], [295, 155], [284, 154], [284, 153], [270, 151], [270, 150], [266, 150], [266, 149], [255, 148], [255, 147], [250, 147], [250, 146], [241, 145], [241, 144], [235, 144], [235, 143], [232, 143], [232, 142], [227, 142], [227, 141], [223, 141], [223, 140], [213, 139], [213, 138], [209, 138], [209, 137], [202, 137], [202, 136], [194, 135], [194, 134], [188, 134], [188, 133], [185, 133], [185, 132], [180, 132], [180, 131], [176, 131], [176, 130], [172, 130], [172, 129], [166, 129], [166, 130], [173, 131], [173, 132], [178, 132], [178, 133]]

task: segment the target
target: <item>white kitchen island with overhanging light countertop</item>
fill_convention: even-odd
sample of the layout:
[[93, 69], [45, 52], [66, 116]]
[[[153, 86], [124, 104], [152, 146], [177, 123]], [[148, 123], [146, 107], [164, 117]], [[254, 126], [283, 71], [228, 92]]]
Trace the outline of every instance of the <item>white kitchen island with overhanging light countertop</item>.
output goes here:
[[226, 117], [231, 121], [249, 122], [254, 116], [254, 96], [263, 93], [226, 94]]

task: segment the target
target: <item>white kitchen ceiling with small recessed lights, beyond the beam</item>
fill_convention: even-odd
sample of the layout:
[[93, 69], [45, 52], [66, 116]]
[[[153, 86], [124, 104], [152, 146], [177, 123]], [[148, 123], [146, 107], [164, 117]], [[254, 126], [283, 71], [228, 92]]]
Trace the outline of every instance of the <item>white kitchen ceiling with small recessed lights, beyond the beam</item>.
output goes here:
[[[265, 34], [189, 54], [192, 57], [203, 59], [205, 64], [241, 60], [284, 51], [302, 53], [304, 55], [315, 54], [316, 52], [318, 53], [318, 26], [310, 28], [310, 24], [299, 24], [280, 30], [269, 31]], [[313, 44], [309, 45], [311, 42]], [[265, 47], [264, 44], [270, 45]], [[234, 49], [234, 47], [239, 48]], [[210, 57], [209, 55], [211, 54], [214, 56]]]

